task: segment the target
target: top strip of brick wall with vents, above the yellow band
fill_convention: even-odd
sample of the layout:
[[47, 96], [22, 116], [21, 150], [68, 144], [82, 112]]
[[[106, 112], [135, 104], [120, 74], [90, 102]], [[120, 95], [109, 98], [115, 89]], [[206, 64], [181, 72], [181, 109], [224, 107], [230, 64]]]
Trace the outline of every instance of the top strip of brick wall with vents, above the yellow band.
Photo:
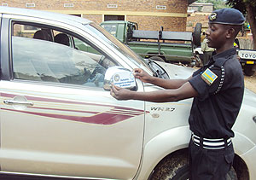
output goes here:
[[[11, 7], [25, 8], [26, 3], [35, 3], [34, 9], [65, 10], [64, 3], [73, 3], [76, 10], [109, 10], [108, 4], [117, 4], [117, 11], [149, 11], [149, 12], [172, 12], [186, 13], [188, 8], [187, 0], [1, 0], [1, 3], [8, 3]], [[157, 5], [166, 5], [166, 10], [155, 9]], [[113, 9], [112, 9], [113, 10]]]

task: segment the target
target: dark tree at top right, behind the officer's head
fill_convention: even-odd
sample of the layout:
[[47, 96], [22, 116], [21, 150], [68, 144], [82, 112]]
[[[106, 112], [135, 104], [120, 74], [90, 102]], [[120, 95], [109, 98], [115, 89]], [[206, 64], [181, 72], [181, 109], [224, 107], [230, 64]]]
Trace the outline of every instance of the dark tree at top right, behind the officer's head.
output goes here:
[[247, 16], [253, 34], [253, 49], [256, 49], [256, 0], [227, 0], [227, 4]]

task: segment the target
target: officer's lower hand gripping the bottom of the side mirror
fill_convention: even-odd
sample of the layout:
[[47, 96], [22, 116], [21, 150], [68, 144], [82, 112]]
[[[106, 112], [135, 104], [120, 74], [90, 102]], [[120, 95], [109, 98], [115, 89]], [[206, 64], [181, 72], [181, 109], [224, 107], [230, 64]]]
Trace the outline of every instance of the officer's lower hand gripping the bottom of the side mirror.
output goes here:
[[117, 100], [129, 100], [131, 99], [131, 90], [126, 90], [112, 84], [110, 95]]

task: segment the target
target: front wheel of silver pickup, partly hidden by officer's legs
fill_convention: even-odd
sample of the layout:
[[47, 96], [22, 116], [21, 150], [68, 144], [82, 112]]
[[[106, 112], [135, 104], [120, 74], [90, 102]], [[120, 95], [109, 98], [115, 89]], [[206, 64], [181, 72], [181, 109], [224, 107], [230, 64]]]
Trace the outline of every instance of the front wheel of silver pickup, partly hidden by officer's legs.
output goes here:
[[[187, 150], [187, 149], [186, 149]], [[189, 164], [187, 153], [183, 150], [169, 155], [161, 160], [154, 169], [149, 180], [187, 180], [189, 179]], [[237, 180], [236, 171], [233, 167], [228, 172], [227, 180]]]

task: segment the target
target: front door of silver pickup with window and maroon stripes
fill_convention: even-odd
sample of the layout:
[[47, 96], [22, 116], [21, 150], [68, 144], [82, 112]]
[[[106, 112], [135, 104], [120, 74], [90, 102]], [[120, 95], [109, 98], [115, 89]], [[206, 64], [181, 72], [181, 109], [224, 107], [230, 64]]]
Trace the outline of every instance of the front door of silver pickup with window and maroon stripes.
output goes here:
[[[106, 69], [119, 62], [67, 24], [3, 15], [1, 171], [132, 178], [143, 148], [143, 102], [116, 101], [103, 89]], [[38, 31], [49, 37], [36, 38]], [[55, 33], [80, 38], [93, 52], [55, 43]]]

